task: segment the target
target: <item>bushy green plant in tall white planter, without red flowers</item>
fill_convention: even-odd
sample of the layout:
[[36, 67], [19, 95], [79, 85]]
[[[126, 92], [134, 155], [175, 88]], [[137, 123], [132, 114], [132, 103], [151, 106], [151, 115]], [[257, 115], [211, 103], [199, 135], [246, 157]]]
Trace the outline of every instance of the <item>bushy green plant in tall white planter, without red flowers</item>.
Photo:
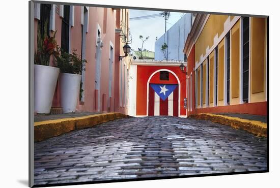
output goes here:
[[60, 54], [55, 56], [57, 67], [60, 68], [60, 90], [61, 90], [61, 106], [64, 113], [74, 113], [76, 111], [79, 94], [82, 92], [81, 72], [84, 68], [86, 59], [76, 53], [73, 49], [72, 53], [64, 52], [59, 49]]

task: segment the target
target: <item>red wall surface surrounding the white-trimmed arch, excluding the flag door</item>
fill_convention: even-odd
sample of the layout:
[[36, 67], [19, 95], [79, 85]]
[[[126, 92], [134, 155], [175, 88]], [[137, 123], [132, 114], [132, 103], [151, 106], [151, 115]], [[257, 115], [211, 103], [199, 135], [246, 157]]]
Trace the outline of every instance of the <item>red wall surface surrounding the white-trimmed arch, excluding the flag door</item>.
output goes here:
[[[184, 98], [186, 97], [186, 74], [182, 73], [178, 67], [168, 66], [137, 66], [137, 88], [136, 88], [136, 115], [147, 115], [147, 82], [149, 77], [157, 70], [168, 69], [174, 72], [181, 83], [180, 93], [180, 115], [186, 115], [186, 109], [184, 109]], [[156, 74], [155, 74], [156, 75]], [[153, 76], [150, 83], [158, 83], [159, 76]], [[160, 81], [160, 83], [177, 83], [174, 82], [176, 77], [170, 74], [169, 81]], [[152, 81], [152, 82], [151, 82]]]

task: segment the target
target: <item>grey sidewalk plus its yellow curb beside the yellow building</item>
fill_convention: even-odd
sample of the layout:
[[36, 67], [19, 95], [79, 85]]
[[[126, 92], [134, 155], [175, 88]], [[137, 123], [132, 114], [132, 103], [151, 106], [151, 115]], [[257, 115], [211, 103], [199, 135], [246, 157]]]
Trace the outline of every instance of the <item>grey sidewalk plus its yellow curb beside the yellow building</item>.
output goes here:
[[200, 113], [191, 114], [189, 118], [211, 120], [231, 126], [234, 129], [245, 130], [258, 137], [267, 137], [267, 116], [238, 113]]

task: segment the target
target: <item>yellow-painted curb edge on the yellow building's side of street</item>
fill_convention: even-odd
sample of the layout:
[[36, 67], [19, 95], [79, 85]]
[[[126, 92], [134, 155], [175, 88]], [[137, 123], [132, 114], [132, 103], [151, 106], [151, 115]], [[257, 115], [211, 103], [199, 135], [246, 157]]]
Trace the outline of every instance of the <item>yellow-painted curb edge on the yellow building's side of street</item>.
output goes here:
[[261, 121], [209, 113], [191, 114], [189, 117], [195, 119], [211, 120], [212, 122], [225, 124], [235, 129], [248, 131], [249, 133], [254, 134], [258, 137], [267, 137], [267, 123]]

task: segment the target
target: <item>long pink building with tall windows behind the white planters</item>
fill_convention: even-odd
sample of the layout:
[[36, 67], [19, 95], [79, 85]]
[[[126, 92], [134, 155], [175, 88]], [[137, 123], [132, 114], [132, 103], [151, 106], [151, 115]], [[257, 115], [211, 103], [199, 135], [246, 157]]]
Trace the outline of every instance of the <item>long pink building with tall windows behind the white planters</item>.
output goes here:
[[[127, 79], [130, 57], [124, 55], [120, 34], [127, 35], [129, 11], [125, 9], [35, 4], [35, 39], [37, 29], [47, 30], [62, 49], [76, 49], [87, 59], [82, 72], [81, 98], [77, 111], [121, 112], [127, 114]], [[37, 40], [35, 40], [35, 48]], [[54, 65], [53, 60], [50, 66]], [[61, 111], [59, 80], [52, 101], [52, 113]]]

